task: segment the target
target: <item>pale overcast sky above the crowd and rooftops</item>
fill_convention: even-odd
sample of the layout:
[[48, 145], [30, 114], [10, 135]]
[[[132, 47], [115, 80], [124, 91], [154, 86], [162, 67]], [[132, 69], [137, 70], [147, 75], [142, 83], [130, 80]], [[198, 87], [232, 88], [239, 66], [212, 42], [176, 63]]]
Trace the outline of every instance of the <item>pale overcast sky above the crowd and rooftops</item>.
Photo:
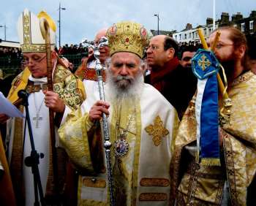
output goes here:
[[[44, 9], [58, 26], [59, 0], [1, 0], [0, 25], [7, 26], [7, 40], [18, 42], [16, 23], [23, 9], [37, 14]], [[213, 15], [213, 0], [61, 0], [61, 45], [79, 44], [81, 39], [94, 39], [94, 34], [104, 27], [121, 20], [133, 20], [148, 29], [181, 31], [187, 23], [203, 25]], [[256, 10], [256, 0], [216, 0], [216, 16], [229, 12], [230, 17], [241, 12], [248, 17]], [[4, 39], [4, 28], [0, 28]]]

